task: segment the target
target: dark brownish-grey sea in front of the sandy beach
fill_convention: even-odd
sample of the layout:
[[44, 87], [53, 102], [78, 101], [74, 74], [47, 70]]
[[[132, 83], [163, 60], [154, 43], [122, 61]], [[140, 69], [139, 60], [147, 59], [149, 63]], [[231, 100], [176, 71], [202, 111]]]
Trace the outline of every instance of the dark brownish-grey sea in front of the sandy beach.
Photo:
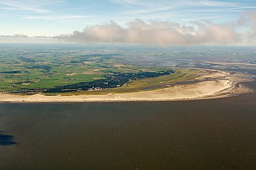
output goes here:
[[254, 169], [255, 101], [0, 103], [0, 169]]

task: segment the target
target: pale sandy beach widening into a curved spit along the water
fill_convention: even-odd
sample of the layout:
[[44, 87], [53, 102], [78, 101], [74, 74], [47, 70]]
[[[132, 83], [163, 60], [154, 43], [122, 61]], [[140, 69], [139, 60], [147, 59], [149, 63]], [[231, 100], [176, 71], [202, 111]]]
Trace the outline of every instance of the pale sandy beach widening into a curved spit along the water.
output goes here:
[[92, 96], [16, 96], [0, 94], [0, 102], [102, 102], [102, 101], [177, 101], [237, 96], [253, 91], [240, 82], [253, 81], [250, 74], [207, 70], [194, 84], [174, 85], [159, 90], [135, 93], [109, 93]]

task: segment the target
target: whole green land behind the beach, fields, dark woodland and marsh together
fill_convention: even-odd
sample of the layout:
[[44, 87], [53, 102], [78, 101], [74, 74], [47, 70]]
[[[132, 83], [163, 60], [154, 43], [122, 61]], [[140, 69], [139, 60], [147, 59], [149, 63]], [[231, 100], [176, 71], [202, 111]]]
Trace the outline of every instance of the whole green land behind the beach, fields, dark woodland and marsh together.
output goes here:
[[137, 92], [195, 76], [188, 69], [131, 65], [120, 57], [122, 53], [100, 52], [72, 47], [1, 48], [0, 92]]

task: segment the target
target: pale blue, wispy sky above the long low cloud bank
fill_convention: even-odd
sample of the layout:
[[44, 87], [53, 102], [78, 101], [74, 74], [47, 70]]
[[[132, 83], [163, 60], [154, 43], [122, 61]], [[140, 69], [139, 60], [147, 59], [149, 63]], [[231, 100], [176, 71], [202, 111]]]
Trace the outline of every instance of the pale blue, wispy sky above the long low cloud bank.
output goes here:
[[0, 0], [0, 35], [55, 36], [113, 20], [125, 27], [136, 18], [191, 24], [236, 22], [256, 1], [70, 1]]

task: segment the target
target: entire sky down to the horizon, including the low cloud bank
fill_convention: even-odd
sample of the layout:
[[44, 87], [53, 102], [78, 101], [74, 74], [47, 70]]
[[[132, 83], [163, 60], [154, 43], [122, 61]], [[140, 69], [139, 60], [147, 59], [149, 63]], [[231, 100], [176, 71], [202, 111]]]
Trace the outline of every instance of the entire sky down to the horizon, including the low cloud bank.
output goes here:
[[256, 1], [0, 0], [0, 43], [254, 44]]

